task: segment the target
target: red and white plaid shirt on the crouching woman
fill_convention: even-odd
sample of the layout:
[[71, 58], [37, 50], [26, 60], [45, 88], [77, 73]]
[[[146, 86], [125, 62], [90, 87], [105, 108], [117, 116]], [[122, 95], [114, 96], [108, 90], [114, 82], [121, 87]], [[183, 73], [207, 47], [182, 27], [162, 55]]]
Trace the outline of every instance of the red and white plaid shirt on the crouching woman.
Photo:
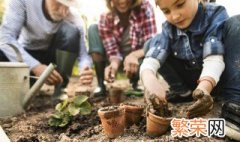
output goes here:
[[[102, 14], [98, 29], [108, 57], [120, 56], [119, 45], [124, 28], [119, 24], [120, 19], [114, 13]], [[144, 42], [155, 35], [157, 28], [154, 11], [146, 0], [140, 6], [140, 11], [132, 10], [129, 15], [129, 42], [132, 51], [143, 48]]]

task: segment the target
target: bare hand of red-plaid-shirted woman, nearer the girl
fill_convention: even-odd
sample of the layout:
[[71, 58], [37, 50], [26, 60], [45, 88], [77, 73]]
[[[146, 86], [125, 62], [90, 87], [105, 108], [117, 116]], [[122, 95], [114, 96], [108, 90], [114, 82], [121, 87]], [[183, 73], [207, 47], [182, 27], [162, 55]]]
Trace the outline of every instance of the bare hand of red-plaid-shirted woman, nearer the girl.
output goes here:
[[125, 74], [128, 78], [132, 78], [134, 74], [138, 73], [139, 62], [138, 57], [134, 54], [130, 53], [125, 57], [124, 60], [124, 68]]

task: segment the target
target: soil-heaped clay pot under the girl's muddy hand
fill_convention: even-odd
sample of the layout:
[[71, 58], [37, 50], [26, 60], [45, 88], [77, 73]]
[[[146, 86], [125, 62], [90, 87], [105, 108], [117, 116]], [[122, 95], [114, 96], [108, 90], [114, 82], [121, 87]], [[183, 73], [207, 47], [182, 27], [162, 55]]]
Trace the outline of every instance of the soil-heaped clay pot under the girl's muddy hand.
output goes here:
[[172, 120], [171, 111], [167, 104], [152, 102], [147, 108], [147, 135], [155, 138], [165, 134]]

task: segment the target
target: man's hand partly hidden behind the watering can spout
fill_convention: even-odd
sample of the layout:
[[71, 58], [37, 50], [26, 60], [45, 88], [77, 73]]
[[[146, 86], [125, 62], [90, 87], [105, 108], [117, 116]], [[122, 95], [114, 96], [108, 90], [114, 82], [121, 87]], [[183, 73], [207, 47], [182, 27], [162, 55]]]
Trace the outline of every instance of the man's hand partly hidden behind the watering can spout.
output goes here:
[[[40, 77], [46, 68], [47, 68], [46, 65], [39, 64], [32, 69], [32, 72], [35, 76]], [[46, 79], [46, 84], [48, 85], [56, 85], [62, 82], [63, 82], [63, 78], [56, 70], [53, 70], [52, 73]]]

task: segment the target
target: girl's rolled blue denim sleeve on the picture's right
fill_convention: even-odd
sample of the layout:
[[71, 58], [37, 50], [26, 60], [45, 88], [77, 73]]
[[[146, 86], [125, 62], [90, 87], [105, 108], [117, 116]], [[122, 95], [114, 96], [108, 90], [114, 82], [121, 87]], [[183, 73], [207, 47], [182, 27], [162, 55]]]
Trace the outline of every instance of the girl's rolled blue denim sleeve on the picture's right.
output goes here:
[[226, 9], [222, 6], [217, 7], [213, 13], [209, 12], [209, 27], [204, 35], [203, 58], [209, 55], [224, 54], [222, 43], [222, 27], [228, 19]]

